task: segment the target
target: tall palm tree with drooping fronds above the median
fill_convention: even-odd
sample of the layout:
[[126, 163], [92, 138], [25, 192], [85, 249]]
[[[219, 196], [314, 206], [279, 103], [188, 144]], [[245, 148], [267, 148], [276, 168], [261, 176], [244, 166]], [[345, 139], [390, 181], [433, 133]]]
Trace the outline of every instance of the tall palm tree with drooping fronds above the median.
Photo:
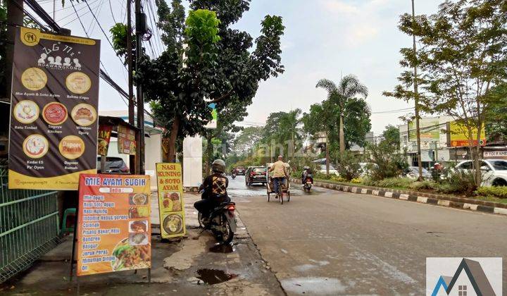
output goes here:
[[368, 87], [365, 87], [355, 75], [346, 75], [342, 78], [338, 85], [328, 79], [321, 79], [315, 87], [322, 87], [327, 90], [327, 98], [339, 106], [339, 150], [345, 151], [345, 135], [344, 135], [344, 107], [346, 102], [357, 95], [364, 98], [368, 96]]

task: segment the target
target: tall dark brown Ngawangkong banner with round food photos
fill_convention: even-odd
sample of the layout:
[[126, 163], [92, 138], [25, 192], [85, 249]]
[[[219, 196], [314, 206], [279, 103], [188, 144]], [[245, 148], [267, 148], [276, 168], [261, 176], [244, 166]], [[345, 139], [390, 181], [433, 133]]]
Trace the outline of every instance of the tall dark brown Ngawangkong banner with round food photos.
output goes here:
[[8, 187], [77, 190], [96, 173], [100, 41], [18, 28]]

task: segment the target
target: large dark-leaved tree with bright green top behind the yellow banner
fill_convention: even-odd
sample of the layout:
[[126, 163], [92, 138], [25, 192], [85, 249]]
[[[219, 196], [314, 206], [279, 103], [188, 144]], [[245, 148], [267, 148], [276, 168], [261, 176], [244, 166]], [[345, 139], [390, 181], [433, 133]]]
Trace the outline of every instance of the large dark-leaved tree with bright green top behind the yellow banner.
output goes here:
[[158, 121], [165, 124], [163, 143], [172, 160], [177, 139], [206, 132], [209, 103], [217, 104], [219, 117], [230, 110], [242, 120], [258, 83], [283, 73], [284, 26], [280, 16], [266, 16], [252, 50], [252, 37], [231, 28], [249, 9], [249, 1], [192, 0], [186, 21], [180, 0], [170, 7], [163, 0], [156, 4], [167, 49], [158, 58], [144, 56], [135, 80], [146, 90]]

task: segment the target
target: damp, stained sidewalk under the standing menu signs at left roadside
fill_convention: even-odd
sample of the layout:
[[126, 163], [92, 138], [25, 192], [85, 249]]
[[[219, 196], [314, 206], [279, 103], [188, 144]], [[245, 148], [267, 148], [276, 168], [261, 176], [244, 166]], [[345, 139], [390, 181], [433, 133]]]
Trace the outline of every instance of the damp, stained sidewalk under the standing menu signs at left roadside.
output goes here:
[[[158, 202], [156, 193], [152, 195], [151, 284], [147, 270], [83, 276], [80, 295], [284, 295], [239, 217], [232, 247], [216, 245], [210, 233], [201, 233], [192, 206], [198, 199], [184, 194], [187, 236], [161, 242]], [[70, 236], [24, 274], [0, 285], [0, 294], [76, 295], [76, 277], [69, 282], [71, 251]]]

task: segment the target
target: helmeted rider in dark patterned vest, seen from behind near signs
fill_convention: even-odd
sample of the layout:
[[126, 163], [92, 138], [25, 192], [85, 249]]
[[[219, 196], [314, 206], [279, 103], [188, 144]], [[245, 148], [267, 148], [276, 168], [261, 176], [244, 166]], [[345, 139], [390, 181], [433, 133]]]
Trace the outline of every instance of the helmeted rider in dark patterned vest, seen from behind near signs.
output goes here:
[[201, 200], [194, 203], [194, 208], [201, 212], [203, 218], [208, 218], [211, 211], [223, 202], [230, 202], [227, 195], [227, 186], [229, 179], [225, 176], [225, 162], [222, 159], [216, 159], [211, 164], [213, 173], [204, 179], [204, 183], [199, 186], [199, 192], [204, 190]]

